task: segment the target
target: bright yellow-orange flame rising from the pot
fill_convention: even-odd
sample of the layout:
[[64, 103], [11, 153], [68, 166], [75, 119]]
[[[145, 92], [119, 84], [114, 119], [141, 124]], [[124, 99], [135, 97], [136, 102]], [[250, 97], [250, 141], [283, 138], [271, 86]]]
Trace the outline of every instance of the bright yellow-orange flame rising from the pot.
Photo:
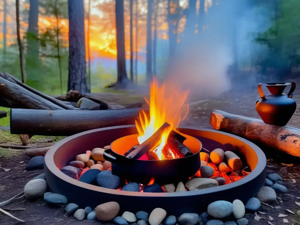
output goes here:
[[[165, 122], [171, 125], [162, 134], [158, 146], [152, 149], [160, 160], [165, 158], [162, 150], [167, 143], [170, 132], [175, 130], [187, 116], [189, 110], [186, 103], [187, 95], [188, 91], [179, 91], [172, 83], [164, 83], [159, 86], [154, 77], [150, 86], [150, 101], [146, 100], [149, 104], [149, 117], [144, 110], [141, 110], [139, 119], [135, 121], [140, 144], [151, 137]], [[175, 158], [174, 154], [172, 156]]]

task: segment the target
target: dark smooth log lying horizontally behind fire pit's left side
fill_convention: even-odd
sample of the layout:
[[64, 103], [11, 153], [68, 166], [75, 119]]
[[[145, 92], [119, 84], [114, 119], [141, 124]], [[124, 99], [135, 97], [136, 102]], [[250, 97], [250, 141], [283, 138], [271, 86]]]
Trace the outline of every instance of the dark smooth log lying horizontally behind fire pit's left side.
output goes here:
[[10, 133], [70, 136], [97, 128], [131, 125], [139, 108], [125, 110], [10, 110]]

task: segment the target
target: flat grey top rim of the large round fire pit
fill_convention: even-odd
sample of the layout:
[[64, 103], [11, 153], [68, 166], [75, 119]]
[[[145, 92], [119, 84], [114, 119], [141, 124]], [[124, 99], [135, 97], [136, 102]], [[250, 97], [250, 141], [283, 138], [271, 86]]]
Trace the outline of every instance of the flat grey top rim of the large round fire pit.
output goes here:
[[92, 185], [92, 184], [86, 184], [84, 182], [78, 181], [76, 179], [73, 179], [73, 178], [65, 175], [64, 173], [62, 173], [55, 166], [55, 163], [54, 163], [54, 154], [55, 154], [55, 152], [59, 148], [61, 148], [64, 144], [66, 144], [68, 141], [71, 141], [71, 140], [73, 140], [73, 139], [75, 139], [79, 136], [87, 135], [87, 134], [90, 134], [90, 133], [93, 133], [93, 132], [105, 131], [105, 130], [111, 130], [111, 129], [119, 129], [119, 128], [133, 128], [133, 127], [135, 127], [135, 125], [124, 125], [124, 126], [99, 128], [99, 129], [85, 131], [85, 132], [81, 132], [81, 133], [74, 134], [72, 136], [66, 137], [66, 138], [60, 140], [59, 142], [57, 142], [46, 153], [46, 155], [45, 155], [45, 169], [49, 170], [47, 172], [52, 173], [53, 175], [55, 175], [59, 179], [65, 181], [65, 182], [68, 182], [69, 184], [75, 185], [75, 186], [80, 187], [80, 188], [85, 188], [85, 189], [89, 189], [89, 190], [92, 190], [92, 191], [101, 192], [101, 193], [120, 195], [120, 196], [137, 196], [137, 197], [138, 196], [141, 196], [141, 197], [184, 197], [184, 196], [196, 196], [196, 195], [204, 195], [204, 194], [209, 194], [209, 193], [215, 193], [215, 192], [219, 192], [219, 191], [229, 190], [229, 189], [238, 187], [240, 185], [244, 185], [244, 184], [252, 181], [253, 179], [256, 179], [259, 175], [261, 175], [261, 173], [263, 173], [263, 171], [265, 170], [265, 167], [266, 167], [265, 154], [262, 152], [262, 150], [258, 146], [256, 146], [252, 142], [250, 142], [250, 141], [248, 141], [244, 138], [238, 137], [236, 135], [225, 133], [225, 132], [222, 132], [222, 131], [216, 131], [216, 130], [204, 129], [204, 128], [186, 127], [186, 126], [182, 126], [182, 127], [179, 127], [179, 128], [180, 129], [192, 129], [192, 130], [198, 130], [198, 131], [205, 131], [205, 132], [223, 134], [223, 135], [227, 135], [227, 136], [230, 136], [232, 138], [235, 138], [235, 139], [238, 139], [238, 140], [244, 142], [245, 144], [250, 146], [255, 151], [255, 153], [258, 157], [258, 161], [257, 161], [257, 165], [256, 165], [255, 169], [253, 171], [251, 171], [251, 173], [248, 174], [247, 176], [245, 176], [244, 178], [242, 178], [238, 181], [235, 181], [233, 183], [222, 185], [222, 186], [210, 187], [210, 188], [205, 188], [205, 189], [202, 189], [202, 190], [185, 191], [185, 192], [144, 193], [144, 192], [132, 192], [132, 191], [124, 191], [124, 190], [115, 190], [115, 189], [99, 187], [99, 186]]

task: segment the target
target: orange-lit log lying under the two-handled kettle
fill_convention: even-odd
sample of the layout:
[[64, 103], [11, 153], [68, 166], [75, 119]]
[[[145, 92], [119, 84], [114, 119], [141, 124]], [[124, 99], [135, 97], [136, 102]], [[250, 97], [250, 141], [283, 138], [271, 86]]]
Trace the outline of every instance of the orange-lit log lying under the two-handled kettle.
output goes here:
[[235, 134], [300, 157], [300, 130], [297, 128], [269, 125], [260, 119], [238, 116], [221, 110], [214, 110], [211, 113], [210, 124], [216, 130]]

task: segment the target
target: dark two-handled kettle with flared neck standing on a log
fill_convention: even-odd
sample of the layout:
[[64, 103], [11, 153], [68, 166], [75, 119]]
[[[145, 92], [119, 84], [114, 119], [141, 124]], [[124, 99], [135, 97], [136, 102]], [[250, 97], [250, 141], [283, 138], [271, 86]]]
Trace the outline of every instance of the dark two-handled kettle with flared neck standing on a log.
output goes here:
[[[286, 86], [291, 85], [288, 94], [282, 93]], [[264, 95], [262, 86], [270, 91], [271, 95]], [[266, 124], [284, 126], [289, 122], [296, 110], [296, 102], [292, 99], [296, 83], [260, 83], [257, 86], [260, 100], [256, 101], [256, 111]]]

